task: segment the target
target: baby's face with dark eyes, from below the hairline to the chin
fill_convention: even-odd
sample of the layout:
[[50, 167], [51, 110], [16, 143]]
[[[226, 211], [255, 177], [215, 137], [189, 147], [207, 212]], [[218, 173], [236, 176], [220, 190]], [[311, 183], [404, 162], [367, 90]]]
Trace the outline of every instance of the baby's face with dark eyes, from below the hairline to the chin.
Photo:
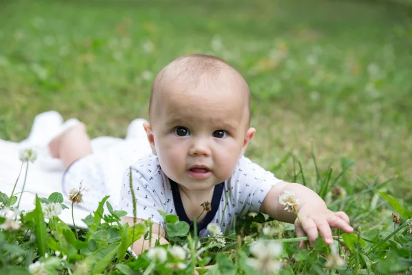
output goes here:
[[165, 175], [201, 191], [233, 174], [255, 129], [249, 129], [247, 94], [236, 83], [192, 86], [159, 93], [151, 144]]

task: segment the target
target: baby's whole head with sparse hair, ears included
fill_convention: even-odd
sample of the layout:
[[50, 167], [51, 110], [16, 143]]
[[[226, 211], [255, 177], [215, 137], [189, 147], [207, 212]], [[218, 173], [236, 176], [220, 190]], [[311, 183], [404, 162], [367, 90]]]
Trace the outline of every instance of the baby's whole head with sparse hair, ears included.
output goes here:
[[228, 179], [255, 133], [249, 98], [242, 76], [214, 56], [182, 56], [163, 68], [144, 126], [165, 175], [187, 190]]

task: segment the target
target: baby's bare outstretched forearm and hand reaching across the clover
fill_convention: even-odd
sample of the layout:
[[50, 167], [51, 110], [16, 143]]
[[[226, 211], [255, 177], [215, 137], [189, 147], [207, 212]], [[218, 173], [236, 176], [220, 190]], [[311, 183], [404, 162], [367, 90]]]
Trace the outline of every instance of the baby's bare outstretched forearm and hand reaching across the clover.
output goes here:
[[[285, 206], [279, 203], [279, 197], [285, 190], [294, 192], [295, 198], [299, 199], [297, 212], [301, 223], [294, 212], [284, 210]], [[297, 236], [307, 235], [311, 245], [319, 235], [318, 230], [325, 243], [329, 245], [333, 242], [330, 227], [341, 228], [347, 233], [353, 231], [345, 212], [332, 212], [316, 192], [301, 184], [290, 184], [284, 181], [275, 184], [266, 195], [260, 210], [278, 221], [295, 223]], [[304, 242], [301, 242], [301, 247], [304, 247]]]

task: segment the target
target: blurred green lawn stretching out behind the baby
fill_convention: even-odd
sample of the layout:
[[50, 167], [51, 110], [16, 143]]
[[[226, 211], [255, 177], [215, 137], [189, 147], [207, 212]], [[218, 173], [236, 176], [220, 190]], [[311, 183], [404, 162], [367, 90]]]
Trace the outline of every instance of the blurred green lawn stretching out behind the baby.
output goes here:
[[0, 138], [52, 109], [124, 137], [161, 67], [214, 54], [251, 87], [253, 160], [293, 153], [313, 175], [312, 149], [323, 170], [353, 159], [412, 200], [412, 4], [396, 2], [0, 1]]

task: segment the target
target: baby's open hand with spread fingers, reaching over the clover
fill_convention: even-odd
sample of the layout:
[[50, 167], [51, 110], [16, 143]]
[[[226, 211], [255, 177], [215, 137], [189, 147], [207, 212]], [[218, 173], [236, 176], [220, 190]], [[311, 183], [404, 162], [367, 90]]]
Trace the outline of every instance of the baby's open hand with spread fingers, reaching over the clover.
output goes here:
[[[295, 230], [297, 236], [308, 236], [310, 245], [313, 245], [314, 240], [319, 236], [319, 231], [323, 236], [325, 243], [330, 245], [333, 243], [332, 231], [333, 228], [352, 233], [354, 229], [349, 224], [349, 217], [345, 212], [333, 212], [324, 205], [313, 206], [304, 205], [299, 209], [299, 219], [295, 221]], [[301, 241], [300, 247], [305, 248], [304, 241]]]

